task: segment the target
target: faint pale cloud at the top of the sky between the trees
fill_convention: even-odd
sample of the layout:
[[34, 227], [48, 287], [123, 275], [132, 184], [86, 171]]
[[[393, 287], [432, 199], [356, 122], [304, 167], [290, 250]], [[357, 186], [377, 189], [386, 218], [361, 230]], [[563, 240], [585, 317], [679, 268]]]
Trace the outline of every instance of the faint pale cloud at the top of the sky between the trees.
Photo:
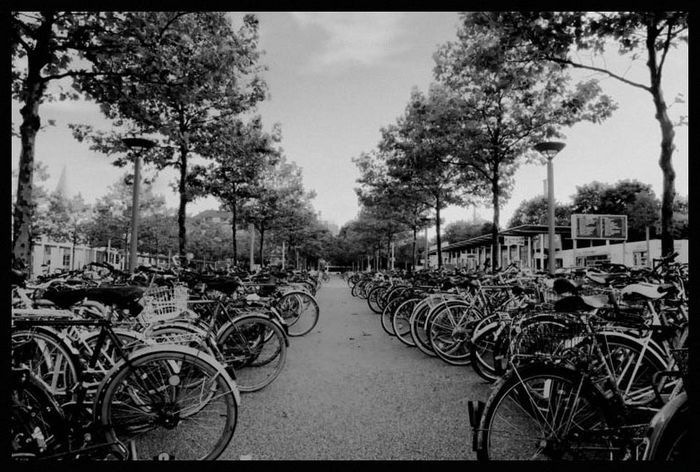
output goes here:
[[400, 12], [294, 12], [302, 28], [319, 28], [327, 36], [313, 69], [350, 64], [373, 65], [402, 52], [399, 42], [405, 14]]

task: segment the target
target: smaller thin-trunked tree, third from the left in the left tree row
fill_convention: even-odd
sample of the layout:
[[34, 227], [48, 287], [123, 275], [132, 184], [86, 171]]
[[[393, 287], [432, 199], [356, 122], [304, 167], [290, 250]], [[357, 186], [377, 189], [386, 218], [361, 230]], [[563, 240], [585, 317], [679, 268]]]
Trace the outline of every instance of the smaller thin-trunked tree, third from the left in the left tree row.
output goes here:
[[229, 117], [210, 125], [211, 139], [202, 143], [200, 150], [210, 156], [202, 190], [221, 201], [232, 214], [231, 229], [234, 259], [238, 255], [236, 225], [241, 206], [258, 195], [266, 167], [275, 165], [281, 151], [273, 148], [281, 139], [279, 128], [272, 133], [262, 129], [260, 117], [249, 123]]

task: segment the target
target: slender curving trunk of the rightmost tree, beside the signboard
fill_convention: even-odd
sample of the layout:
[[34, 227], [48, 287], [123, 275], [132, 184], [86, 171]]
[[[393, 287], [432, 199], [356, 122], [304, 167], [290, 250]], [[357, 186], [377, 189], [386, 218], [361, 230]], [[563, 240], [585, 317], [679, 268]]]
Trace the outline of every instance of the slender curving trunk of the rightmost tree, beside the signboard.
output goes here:
[[[673, 252], [673, 235], [671, 228], [673, 225], [673, 200], [676, 197], [676, 172], [671, 163], [671, 157], [675, 146], [673, 139], [676, 135], [673, 130], [673, 123], [668, 117], [668, 107], [661, 90], [661, 70], [657, 62], [656, 51], [656, 21], [647, 24], [647, 53], [649, 60], [647, 67], [651, 75], [650, 92], [654, 98], [656, 108], [655, 118], [661, 128], [661, 156], [659, 157], [659, 167], [663, 172], [663, 190], [661, 194], [661, 255], [667, 256]], [[669, 26], [670, 27], [670, 26]]]

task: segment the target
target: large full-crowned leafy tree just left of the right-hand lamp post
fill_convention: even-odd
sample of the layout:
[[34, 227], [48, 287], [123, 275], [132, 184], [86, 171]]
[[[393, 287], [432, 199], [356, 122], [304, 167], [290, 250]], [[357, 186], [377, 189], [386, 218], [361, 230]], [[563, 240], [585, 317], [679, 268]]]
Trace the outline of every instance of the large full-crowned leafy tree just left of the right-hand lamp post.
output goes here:
[[579, 121], [599, 123], [615, 108], [595, 80], [571, 87], [560, 65], [527, 60], [507, 39], [481, 13], [464, 13], [458, 41], [435, 55], [435, 76], [455, 95], [440, 119], [450, 123], [444, 127], [450, 162], [466, 179], [483, 183], [479, 195], [493, 207], [494, 261], [500, 205], [509, 197], [513, 175], [523, 162], [542, 162], [533, 146], [561, 138], [563, 127]]

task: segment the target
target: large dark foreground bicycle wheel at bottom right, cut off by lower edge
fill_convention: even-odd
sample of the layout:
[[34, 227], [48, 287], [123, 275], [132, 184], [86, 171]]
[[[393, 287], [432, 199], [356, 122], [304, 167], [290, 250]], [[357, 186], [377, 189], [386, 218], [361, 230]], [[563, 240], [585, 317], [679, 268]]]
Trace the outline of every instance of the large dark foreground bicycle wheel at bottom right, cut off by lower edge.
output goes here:
[[573, 369], [532, 363], [494, 385], [476, 432], [479, 460], [609, 460], [605, 399]]

